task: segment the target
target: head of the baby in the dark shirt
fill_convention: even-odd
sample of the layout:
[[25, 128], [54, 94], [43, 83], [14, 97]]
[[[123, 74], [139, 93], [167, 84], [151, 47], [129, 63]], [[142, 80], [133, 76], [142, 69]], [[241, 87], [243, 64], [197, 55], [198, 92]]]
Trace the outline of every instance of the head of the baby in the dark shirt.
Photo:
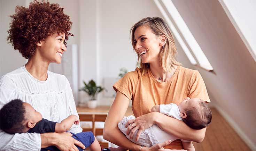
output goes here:
[[19, 99], [11, 100], [0, 110], [0, 126], [7, 133], [26, 133], [33, 128], [42, 115], [29, 103]]

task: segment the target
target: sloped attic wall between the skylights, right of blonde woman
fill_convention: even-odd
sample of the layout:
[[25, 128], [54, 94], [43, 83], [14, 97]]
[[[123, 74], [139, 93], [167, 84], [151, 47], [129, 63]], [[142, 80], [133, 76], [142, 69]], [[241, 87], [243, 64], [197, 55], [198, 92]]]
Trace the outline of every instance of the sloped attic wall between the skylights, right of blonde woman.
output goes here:
[[256, 149], [255, 60], [218, 1], [172, 1], [214, 68], [215, 74], [194, 67], [200, 71], [211, 101]]

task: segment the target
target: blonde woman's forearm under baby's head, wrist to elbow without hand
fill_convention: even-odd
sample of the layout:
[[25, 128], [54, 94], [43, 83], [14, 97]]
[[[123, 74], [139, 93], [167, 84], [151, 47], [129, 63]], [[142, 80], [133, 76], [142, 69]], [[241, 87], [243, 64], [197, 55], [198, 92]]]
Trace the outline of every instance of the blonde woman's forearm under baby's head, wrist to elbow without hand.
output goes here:
[[154, 123], [163, 129], [165, 132], [170, 133], [180, 139], [201, 143], [205, 136], [206, 127], [203, 129], [192, 129], [188, 127], [183, 121], [166, 116], [159, 112], [154, 112], [156, 118]]

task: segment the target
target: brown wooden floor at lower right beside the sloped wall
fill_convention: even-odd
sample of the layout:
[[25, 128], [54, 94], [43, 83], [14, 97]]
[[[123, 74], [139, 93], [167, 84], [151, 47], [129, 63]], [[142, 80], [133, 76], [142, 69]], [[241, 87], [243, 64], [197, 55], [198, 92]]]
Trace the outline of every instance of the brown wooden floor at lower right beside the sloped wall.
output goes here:
[[195, 150], [251, 151], [219, 112], [215, 108], [211, 108], [211, 111], [212, 121], [207, 127], [204, 141], [200, 144], [193, 142]]

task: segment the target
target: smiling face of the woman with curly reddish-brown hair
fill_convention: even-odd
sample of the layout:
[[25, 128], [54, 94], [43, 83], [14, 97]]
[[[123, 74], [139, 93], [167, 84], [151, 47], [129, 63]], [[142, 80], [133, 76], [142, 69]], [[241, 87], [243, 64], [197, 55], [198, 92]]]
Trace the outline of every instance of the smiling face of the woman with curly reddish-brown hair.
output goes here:
[[65, 34], [48, 36], [40, 45], [41, 57], [49, 63], [61, 63], [62, 54], [67, 50], [64, 45]]

